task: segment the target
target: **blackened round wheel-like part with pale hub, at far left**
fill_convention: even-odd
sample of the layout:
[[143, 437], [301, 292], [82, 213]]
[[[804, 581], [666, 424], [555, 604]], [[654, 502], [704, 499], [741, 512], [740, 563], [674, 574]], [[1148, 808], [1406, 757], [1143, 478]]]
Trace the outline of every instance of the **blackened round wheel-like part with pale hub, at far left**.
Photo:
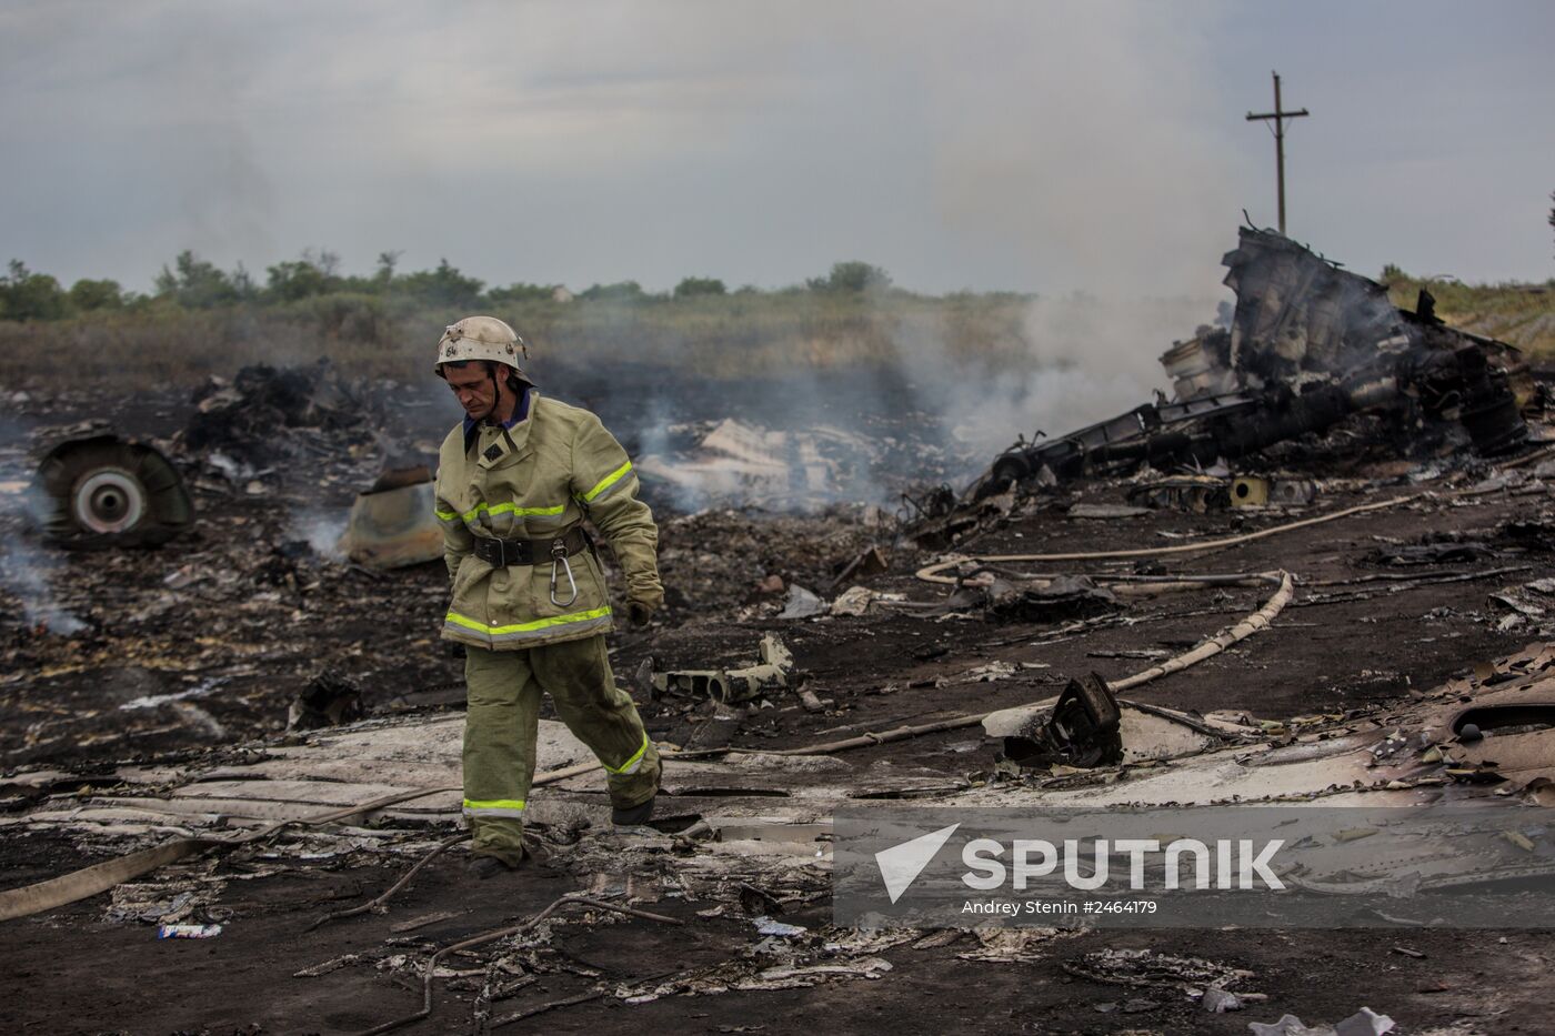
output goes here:
[[194, 521], [177, 468], [156, 448], [106, 432], [50, 448], [33, 498], [44, 535], [68, 549], [157, 546]]

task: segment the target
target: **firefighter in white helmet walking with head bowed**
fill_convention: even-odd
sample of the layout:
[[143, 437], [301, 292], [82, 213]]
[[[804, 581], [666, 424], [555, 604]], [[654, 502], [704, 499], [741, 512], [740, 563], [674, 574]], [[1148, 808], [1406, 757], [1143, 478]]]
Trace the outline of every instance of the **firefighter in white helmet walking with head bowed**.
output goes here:
[[634, 625], [664, 600], [658, 527], [627, 451], [594, 414], [543, 397], [521, 355], [522, 339], [488, 316], [437, 342], [437, 375], [465, 411], [439, 454], [437, 518], [453, 580], [443, 638], [465, 646], [463, 812], [477, 877], [524, 859], [541, 692], [605, 767], [614, 823], [645, 823], [659, 784], [659, 754], [605, 655], [614, 616], [583, 520], [610, 540]]

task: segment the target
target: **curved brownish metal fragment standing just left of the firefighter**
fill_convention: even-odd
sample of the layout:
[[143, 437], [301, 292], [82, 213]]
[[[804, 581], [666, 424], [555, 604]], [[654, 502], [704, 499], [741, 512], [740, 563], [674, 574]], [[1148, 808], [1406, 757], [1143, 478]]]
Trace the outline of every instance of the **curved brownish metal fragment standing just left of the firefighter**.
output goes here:
[[404, 568], [443, 557], [432, 471], [425, 465], [386, 470], [356, 496], [339, 549], [367, 568]]

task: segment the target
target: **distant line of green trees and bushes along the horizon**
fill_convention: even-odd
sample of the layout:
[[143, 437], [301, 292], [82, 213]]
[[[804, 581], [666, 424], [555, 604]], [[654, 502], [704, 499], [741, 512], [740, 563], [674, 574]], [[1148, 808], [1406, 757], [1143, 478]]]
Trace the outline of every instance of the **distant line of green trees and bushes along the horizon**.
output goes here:
[[[591, 285], [569, 292], [563, 285], [513, 283], [487, 288], [477, 277], [468, 277], [446, 258], [432, 269], [401, 274], [400, 252], [381, 252], [370, 275], [341, 272], [341, 257], [327, 249], [306, 249], [300, 257], [264, 269], [260, 283], [239, 263], [224, 271], [199, 258], [191, 250], [179, 252], [157, 272], [148, 294], [124, 291], [115, 280], [78, 280], [65, 288], [50, 274], [39, 274], [20, 260], [11, 260], [0, 277], [0, 319], [58, 320], [72, 316], [145, 311], [157, 308], [213, 310], [235, 305], [288, 305], [323, 296], [370, 296], [403, 299], [411, 305], [443, 310], [473, 310], [482, 305], [504, 306], [541, 302], [610, 302], [650, 303], [717, 296], [750, 294], [863, 294], [899, 291], [879, 266], [857, 260], [835, 263], [826, 277], [810, 277], [802, 285], [776, 292], [746, 285], [736, 291], [717, 277], [686, 277], [673, 291], [648, 292], [634, 280]], [[907, 294], [907, 292], [903, 292]]]

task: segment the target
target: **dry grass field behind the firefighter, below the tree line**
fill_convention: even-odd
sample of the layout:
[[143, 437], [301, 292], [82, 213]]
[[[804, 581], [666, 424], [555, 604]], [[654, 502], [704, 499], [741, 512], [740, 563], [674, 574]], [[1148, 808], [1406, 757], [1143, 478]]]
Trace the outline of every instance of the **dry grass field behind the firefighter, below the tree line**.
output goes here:
[[[1028, 348], [1019, 296], [750, 292], [645, 302], [499, 305], [540, 355], [568, 362], [636, 359], [708, 378], [896, 362], [916, 344], [952, 359], [997, 362]], [[126, 389], [196, 384], [255, 362], [328, 356], [356, 375], [428, 376], [443, 325], [463, 316], [364, 294], [285, 305], [96, 313], [0, 320], [0, 386], [45, 386], [59, 372]]]

